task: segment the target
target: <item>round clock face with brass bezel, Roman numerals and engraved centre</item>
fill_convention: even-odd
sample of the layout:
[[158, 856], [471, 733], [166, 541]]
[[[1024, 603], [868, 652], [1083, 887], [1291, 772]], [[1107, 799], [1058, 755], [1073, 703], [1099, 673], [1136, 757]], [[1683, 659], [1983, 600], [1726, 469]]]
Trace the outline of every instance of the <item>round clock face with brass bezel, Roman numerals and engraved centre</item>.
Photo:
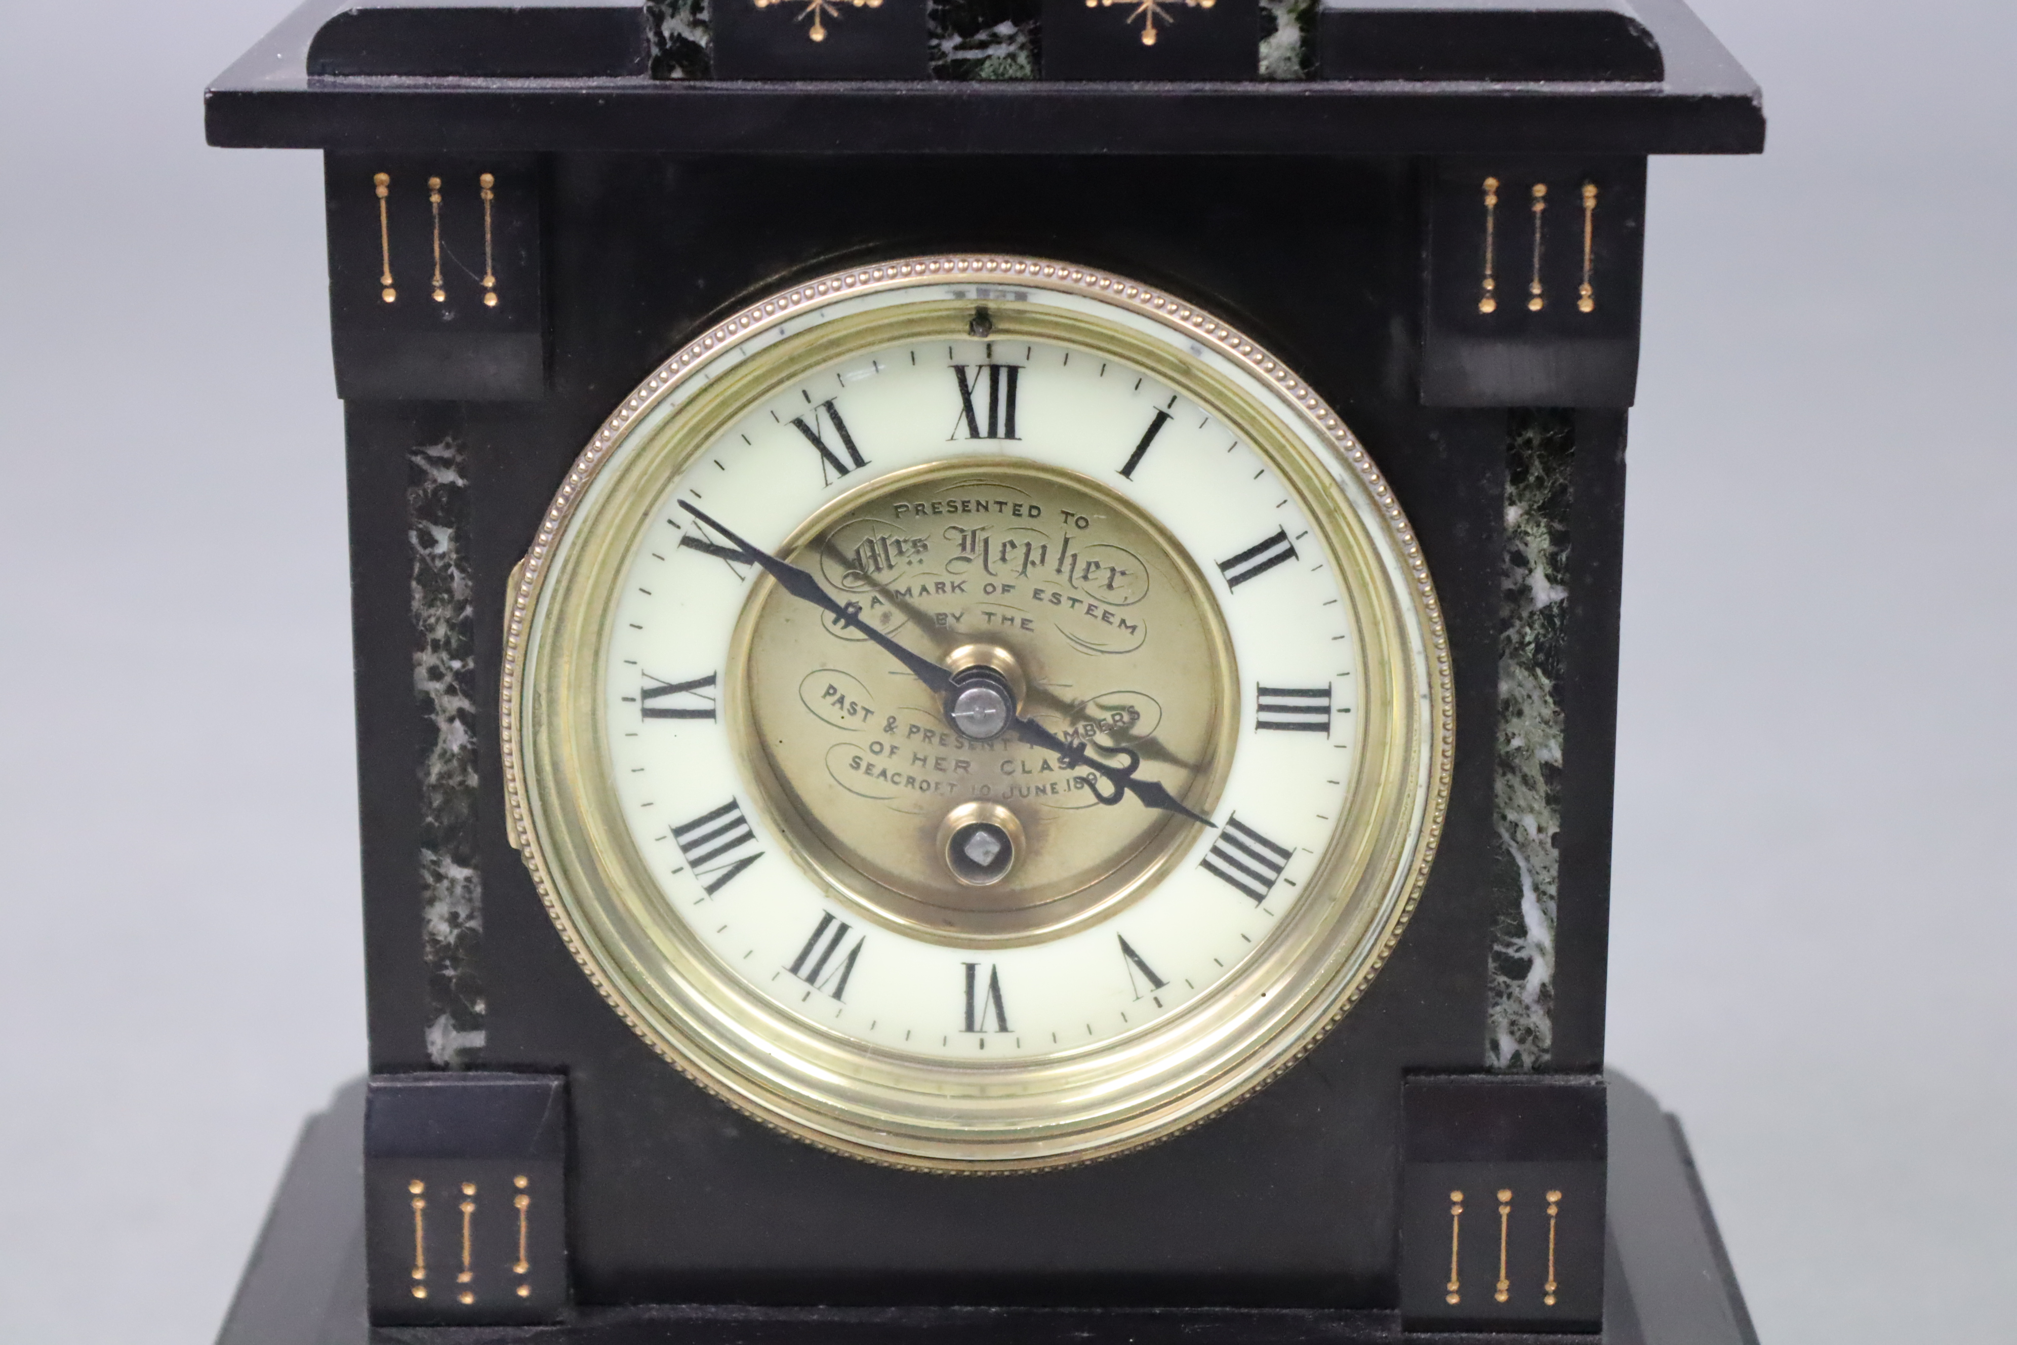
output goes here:
[[1448, 792], [1420, 546], [1337, 415], [1117, 276], [775, 294], [583, 452], [506, 631], [514, 843], [704, 1087], [912, 1168], [1230, 1105], [1386, 960]]

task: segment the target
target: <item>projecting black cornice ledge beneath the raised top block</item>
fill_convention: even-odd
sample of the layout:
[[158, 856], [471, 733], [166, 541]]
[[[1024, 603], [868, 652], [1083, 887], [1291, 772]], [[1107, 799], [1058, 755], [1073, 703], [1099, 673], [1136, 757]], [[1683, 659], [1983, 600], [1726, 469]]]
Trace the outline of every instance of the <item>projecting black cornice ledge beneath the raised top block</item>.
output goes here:
[[[1759, 153], [1757, 81], [1680, 0], [1632, 0], [1664, 79], [666, 81], [311, 75], [307, 0], [204, 95], [212, 145], [678, 155]], [[420, 6], [416, 6], [420, 8]], [[504, 8], [504, 6], [500, 6]], [[537, 8], [537, 6], [532, 6]], [[1545, 4], [1541, 8], [1547, 8]], [[577, 65], [629, 71], [599, 54]], [[442, 67], [434, 67], [442, 69]]]

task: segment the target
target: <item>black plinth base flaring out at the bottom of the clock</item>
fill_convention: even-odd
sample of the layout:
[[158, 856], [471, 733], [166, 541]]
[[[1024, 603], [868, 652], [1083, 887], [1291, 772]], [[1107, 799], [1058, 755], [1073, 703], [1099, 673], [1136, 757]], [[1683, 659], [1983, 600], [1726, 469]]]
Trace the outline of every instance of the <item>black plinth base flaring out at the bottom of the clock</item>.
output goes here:
[[309, 1119], [218, 1345], [1757, 1345], [1680, 1123], [1610, 1075], [1606, 1329], [1402, 1331], [1398, 1313], [1303, 1309], [577, 1307], [549, 1327], [371, 1327], [363, 1262], [363, 1081]]

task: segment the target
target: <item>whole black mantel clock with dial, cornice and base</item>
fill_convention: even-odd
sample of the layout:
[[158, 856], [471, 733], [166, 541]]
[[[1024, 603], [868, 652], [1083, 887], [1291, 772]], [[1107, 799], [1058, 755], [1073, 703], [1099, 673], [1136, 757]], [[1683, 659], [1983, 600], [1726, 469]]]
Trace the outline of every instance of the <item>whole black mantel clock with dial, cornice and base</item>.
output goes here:
[[311, 0], [208, 125], [349, 450], [301, 1339], [1745, 1339], [1604, 1075], [1680, 0]]

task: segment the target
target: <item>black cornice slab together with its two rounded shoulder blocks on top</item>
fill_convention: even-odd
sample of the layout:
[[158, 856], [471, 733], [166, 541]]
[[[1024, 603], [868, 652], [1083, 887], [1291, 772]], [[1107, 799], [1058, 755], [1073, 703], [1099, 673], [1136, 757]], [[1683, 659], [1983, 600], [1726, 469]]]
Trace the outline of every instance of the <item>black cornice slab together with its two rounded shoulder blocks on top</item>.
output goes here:
[[[1648, 155], [1765, 143], [1757, 83], [1682, 0], [1327, 0], [1309, 36], [1319, 77], [1275, 83], [668, 81], [639, 69], [637, 12], [309, 0], [208, 89], [210, 143], [760, 155]], [[1452, 18], [1462, 24], [1448, 40], [1418, 56], [1422, 24]], [[545, 34], [535, 20], [551, 20], [551, 38], [532, 36]], [[1567, 30], [1581, 44], [1563, 44], [1565, 20], [1581, 24]]]

